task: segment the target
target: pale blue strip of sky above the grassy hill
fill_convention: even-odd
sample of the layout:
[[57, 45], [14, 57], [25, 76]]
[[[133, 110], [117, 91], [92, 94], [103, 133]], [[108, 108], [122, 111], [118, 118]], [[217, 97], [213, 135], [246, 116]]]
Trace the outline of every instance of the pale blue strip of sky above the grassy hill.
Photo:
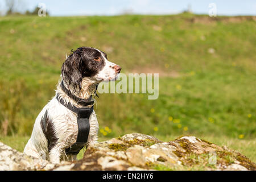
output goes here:
[[[191, 7], [192, 13], [208, 14], [209, 4], [216, 4], [217, 15], [256, 15], [256, 0], [16, 0], [19, 9], [32, 10], [45, 3], [51, 16], [178, 14]], [[5, 0], [0, 0], [4, 13]]]

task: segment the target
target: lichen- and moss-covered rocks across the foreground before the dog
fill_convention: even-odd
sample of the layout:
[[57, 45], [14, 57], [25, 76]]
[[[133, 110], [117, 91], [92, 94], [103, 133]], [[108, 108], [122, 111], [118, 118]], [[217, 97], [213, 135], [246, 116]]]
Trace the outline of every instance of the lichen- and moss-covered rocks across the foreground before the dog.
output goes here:
[[255, 170], [255, 163], [228, 147], [184, 136], [162, 142], [132, 133], [89, 146], [76, 162], [51, 164], [0, 143], [0, 170]]

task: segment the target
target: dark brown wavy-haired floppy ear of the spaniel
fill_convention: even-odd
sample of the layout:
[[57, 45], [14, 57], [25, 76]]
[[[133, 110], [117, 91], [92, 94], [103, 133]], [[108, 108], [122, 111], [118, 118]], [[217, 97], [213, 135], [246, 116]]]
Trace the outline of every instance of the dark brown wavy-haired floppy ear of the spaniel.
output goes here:
[[61, 68], [63, 81], [74, 93], [81, 90], [82, 82], [82, 56], [74, 51], [67, 57]]

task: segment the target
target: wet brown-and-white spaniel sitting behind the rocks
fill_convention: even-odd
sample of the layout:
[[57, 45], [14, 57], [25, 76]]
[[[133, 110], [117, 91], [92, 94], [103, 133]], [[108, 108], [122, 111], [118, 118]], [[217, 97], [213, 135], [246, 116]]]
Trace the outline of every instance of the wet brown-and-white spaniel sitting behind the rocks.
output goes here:
[[[61, 67], [56, 95], [36, 118], [24, 153], [52, 163], [76, 160], [77, 154], [65, 152], [76, 144], [79, 134], [79, 117], [71, 109], [93, 108], [97, 85], [102, 81], [117, 80], [120, 71], [119, 65], [110, 62], [106, 53], [96, 48], [80, 47], [71, 51]], [[82, 105], [80, 100], [86, 101], [87, 105]], [[92, 109], [86, 147], [97, 143], [97, 134], [98, 121]]]

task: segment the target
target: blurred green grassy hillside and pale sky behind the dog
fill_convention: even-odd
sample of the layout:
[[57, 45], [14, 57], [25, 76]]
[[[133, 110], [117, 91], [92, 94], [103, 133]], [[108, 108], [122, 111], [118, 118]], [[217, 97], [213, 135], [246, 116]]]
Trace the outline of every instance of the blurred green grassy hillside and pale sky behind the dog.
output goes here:
[[0, 0], [0, 140], [23, 151], [65, 55], [89, 46], [123, 73], [159, 73], [157, 100], [99, 94], [100, 140], [194, 135], [255, 162], [256, 2], [210, 3]]

